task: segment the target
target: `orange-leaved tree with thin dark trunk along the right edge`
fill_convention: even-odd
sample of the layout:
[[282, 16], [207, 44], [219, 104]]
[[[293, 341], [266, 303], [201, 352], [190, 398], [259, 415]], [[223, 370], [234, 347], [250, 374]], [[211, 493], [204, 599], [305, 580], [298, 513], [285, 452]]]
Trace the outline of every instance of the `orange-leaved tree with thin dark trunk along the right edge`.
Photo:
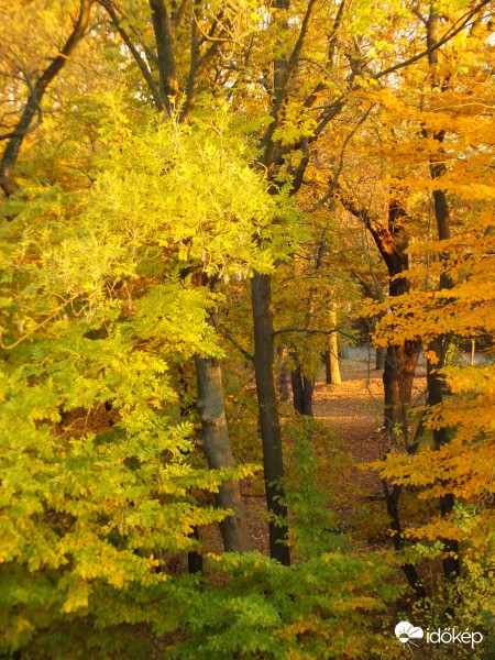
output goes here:
[[[438, 25], [438, 20], [439, 18], [432, 9], [429, 18], [424, 19], [427, 30], [432, 30], [433, 25]], [[477, 42], [479, 35], [471, 32], [469, 37]], [[429, 32], [428, 40], [431, 41], [432, 38]], [[484, 31], [481, 38], [486, 38]], [[471, 272], [472, 266], [474, 271], [477, 268], [477, 266], [474, 266], [474, 262], [484, 261], [491, 252], [491, 248], [485, 244], [485, 241], [490, 242], [490, 231], [486, 228], [485, 201], [483, 200], [485, 186], [491, 180], [491, 174], [480, 167], [479, 160], [486, 157], [490, 148], [476, 146], [476, 144], [485, 144], [485, 120], [480, 122], [480, 127], [475, 131], [476, 135], [468, 129], [468, 122], [464, 123], [466, 118], [463, 117], [463, 113], [468, 108], [465, 105], [466, 97], [464, 96], [466, 94], [465, 81], [462, 77], [455, 78], [452, 74], [455, 66], [461, 66], [457, 62], [455, 51], [450, 52], [449, 55], [443, 63], [440, 63], [437, 57], [429, 58], [430, 69], [427, 72], [426, 77], [430, 82], [431, 91], [429, 94], [422, 92], [422, 112], [419, 113], [421, 129], [417, 132], [417, 140], [421, 141], [417, 150], [418, 157], [425, 158], [427, 165], [425, 169], [431, 179], [429, 184], [432, 198], [431, 211], [437, 224], [438, 242], [426, 249], [414, 251], [414, 254], [426, 255], [426, 266], [414, 268], [415, 289], [409, 295], [406, 294], [398, 298], [396, 310], [398, 315], [395, 312], [394, 304], [391, 318], [382, 319], [378, 328], [387, 328], [386, 334], [389, 339], [393, 336], [395, 339], [406, 341], [414, 338], [419, 339], [426, 350], [428, 359], [428, 407], [425, 413], [425, 421], [418, 427], [419, 432], [416, 435], [415, 443], [408, 448], [407, 476], [406, 472], [400, 469], [400, 477], [395, 481], [394, 491], [399, 493], [403, 486], [407, 487], [407, 485], [415, 484], [416, 486], [425, 486], [425, 493], [422, 494], [425, 498], [438, 497], [440, 516], [433, 517], [431, 524], [427, 525], [428, 532], [424, 535], [422, 530], [415, 529], [410, 534], [411, 536], [417, 535], [419, 538], [429, 538], [429, 540], [436, 539], [437, 549], [442, 551], [446, 579], [462, 584], [462, 581], [459, 580], [459, 576], [462, 575], [462, 552], [465, 551], [468, 556], [472, 557], [472, 551], [469, 548], [463, 548], [464, 543], [461, 541], [464, 539], [459, 534], [459, 529], [457, 531], [452, 530], [457, 527], [454, 520], [459, 517], [458, 512], [462, 509], [464, 502], [462, 497], [460, 503], [457, 502], [458, 491], [454, 486], [457, 477], [450, 481], [446, 475], [452, 470], [450, 460], [459, 460], [460, 462], [466, 460], [468, 463], [470, 462], [464, 450], [460, 450], [460, 446], [455, 442], [457, 433], [462, 429], [469, 416], [463, 422], [458, 417], [460, 426], [457, 428], [447, 424], [447, 420], [440, 421], [442, 420], [440, 410], [443, 408], [449, 409], [450, 406], [455, 408], [459, 402], [452, 402], [450, 392], [462, 391], [460, 383], [463, 380], [463, 370], [458, 367], [451, 372], [449, 369], [449, 362], [452, 364], [454, 342], [462, 343], [470, 337], [470, 332], [475, 334], [485, 331], [483, 330], [483, 322], [477, 317], [477, 311], [474, 312], [474, 308], [479, 307], [477, 302], [473, 301], [470, 309], [464, 308], [462, 311], [457, 306], [459, 297], [464, 296], [464, 293], [461, 293], [464, 292], [464, 287], [469, 289], [472, 285], [481, 286], [484, 290], [483, 296], [485, 292], [491, 290], [490, 282], [475, 284], [476, 276], [474, 272]], [[472, 61], [470, 65], [473, 69], [472, 82], [475, 85], [474, 81], [477, 78], [476, 65]], [[484, 69], [485, 63], [480, 64], [480, 67]], [[469, 96], [471, 96], [471, 92]], [[448, 97], [448, 100], [446, 97]], [[483, 94], [479, 98], [479, 109], [484, 114], [487, 106], [483, 100]], [[449, 133], [443, 127], [449, 127]], [[466, 138], [470, 143], [468, 148], [465, 146]], [[448, 147], [447, 144], [449, 144]], [[449, 160], [446, 157], [447, 151], [449, 151]], [[481, 153], [483, 153], [483, 156]], [[470, 193], [468, 193], [468, 189], [470, 189]], [[455, 200], [455, 237], [451, 233], [453, 211], [450, 199]], [[476, 239], [473, 239], [473, 237], [476, 237]], [[481, 252], [477, 253], [477, 250], [474, 250], [472, 253], [469, 252], [469, 256], [466, 256], [461, 246], [471, 244], [473, 240], [480, 241]], [[475, 256], [476, 253], [477, 256]], [[463, 268], [464, 264], [465, 267]], [[419, 283], [426, 283], [426, 290], [420, 293]], [[460, 314], [460, 317], [459, 319], [455, 317], [454, 320], [457, 312]], [[473, 315], [480, 321], [476, 330], [471, 324]], [[446, 318], [450, 318], [451, 321], [446, 323]], [[486, 321], [490, 327], [490, 314]], [[393, 328], [394, 330], [392, 330]], [[470, 330], [466, 331], [466, 328], [470, 328]], [[486, 332], [490, 333], [491, 331], [486, 330]], [[384, 337], [385, 334], [378, 329], [378, 336]], [[447, 375], [451, 373], [455, 373], [454, 378]], [[429, 448], [428, 436], [421, 439], [421, 436], [425, 436], [424, 425], [431, 433], [431, 449]], [[462, 431], [460, 432], [462, 433]], [[451, 442], [457, 446], [455, 449], [446, 450], [446, 446], [450, 446]], [[430, 479], [428, 474], [429, 461], [436, 461], [436, 459], [431, 459], [431, 450], [433, 454], [439, 452], [443, 457], [443, 479], [440, 477], [438, 471], [435, 472], [433, 479]], [[450, 457], [449, 460], [446, 460], [447, 453]], [[453, 459], [453, 455], [457, 455], [457, 459]], [[427, 457], [428, 470], [425, 462]], [[388, 463], [388, 460], [392, 465], [397, 458], [392, 454], [385, 464]], [[403, 461], [404, 459], [400, 458], [398, 462], [403, 465]], [[425, 471], [426, 475], [419, 477], [416, 470]], [[386, 470], [382, 474], [391, 476], [392, 472]], [[438, 484], [436, 480], [439, 480]], [[480, 569], [483, 573], [485, 560], [479, 559], [479, 561], [483, 565], [483, 569]], [[469, 565], [469, 562], [466, 565]], [[465, 579], [465, 575], [463, 579]], [[453, 595], [450, 603], [451, 614], [452, 608], [458, 605], [459, 602]]]

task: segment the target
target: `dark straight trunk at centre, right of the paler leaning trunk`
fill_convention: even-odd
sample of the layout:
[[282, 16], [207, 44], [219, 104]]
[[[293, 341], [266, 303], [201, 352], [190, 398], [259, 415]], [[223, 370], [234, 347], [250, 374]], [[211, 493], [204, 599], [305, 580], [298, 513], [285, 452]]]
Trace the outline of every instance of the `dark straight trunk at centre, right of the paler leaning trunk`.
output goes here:
[[[266, 488], [266, 504], [271, 519], [270, 556], [284, 565], [290, 565], [290, 551], [287, 546], [287, 507], [280, 503], [284, 496], [282, 479], [284, 460], [282, 449], [280, 420], [274, 378], [274, 345], [272, 318], [272, 283], [270, 275], [255, 273], [251, 280], [254, 327], [254, 370], [260, 409], [260, 428], [263, 442], [263, 466]], [[275, 521], [273, 517], [276, 517]]]

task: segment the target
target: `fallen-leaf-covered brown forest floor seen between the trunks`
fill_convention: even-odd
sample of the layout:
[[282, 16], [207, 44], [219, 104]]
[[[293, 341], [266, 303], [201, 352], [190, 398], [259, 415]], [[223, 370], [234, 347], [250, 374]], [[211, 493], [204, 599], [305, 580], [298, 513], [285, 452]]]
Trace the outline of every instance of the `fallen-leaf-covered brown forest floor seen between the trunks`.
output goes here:
[[[352, 529], [365, 517], [369, 527], [365, 536], [375, 544], [387, 537], [388, 522], [380, 477], [372, 470], [363, 469], [363, 464], [382, 459], [386, 450], [385, 438], [380, 432], [383, 424], [383, 372], [375, 370], [373, 349], [351, 346], [344, 354], [340, 360], [340, 385], [327, 385], [324, 372], [321, 373], [315, 391], [314, 414], [317, 419], [327, 422], [351, 463], [343, 481], [342, 475], [340, 479], [337, 476], [340, 482], [336, 484], [337, 488], [343, 486], [345, 491], [343, 496], [338, 494], [337, 497], [338, 521], [345, 520]], [[414, 397], [421, 397], [425, 387], [426, 366], [420, 360]], [[331, 475], [326, 481], [331, 481]], [[256, 480], [246, 480], [242, 491], [254, 548], [267, 554], [266, 509], [261, 486]], [[370, 509], [381, 514], [373, 516], [376, 519], [374, 529], [373, 526], [370, 528]]]

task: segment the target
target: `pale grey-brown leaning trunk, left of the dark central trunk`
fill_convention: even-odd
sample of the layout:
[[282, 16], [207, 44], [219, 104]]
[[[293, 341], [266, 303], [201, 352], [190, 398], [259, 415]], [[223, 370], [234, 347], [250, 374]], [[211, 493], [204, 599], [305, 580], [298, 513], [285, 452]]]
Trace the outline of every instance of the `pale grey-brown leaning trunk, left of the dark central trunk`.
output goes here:
[[[233, 468], [234, 460], [227, 428], [220, 362], [215, 358], [200, 358], [199, 355], [195, 356], [195, 362], [198, 380], [197, 408], [201, 419], [202, 450], [208, 468], [210, 470]], [[239, 481], [223, 482], [217, 495], [217, 503], [220, 507], [233, 512], [220, 522], [226, 551], [246, 552], [251, 550]]]

